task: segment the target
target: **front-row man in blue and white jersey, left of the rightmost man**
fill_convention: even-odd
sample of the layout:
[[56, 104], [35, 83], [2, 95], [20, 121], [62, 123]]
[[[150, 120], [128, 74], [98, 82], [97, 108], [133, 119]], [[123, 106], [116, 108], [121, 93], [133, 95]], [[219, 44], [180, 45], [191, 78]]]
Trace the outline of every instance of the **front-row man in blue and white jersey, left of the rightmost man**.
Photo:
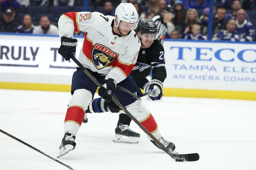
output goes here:
[[227, 30], [220, 30], [214, 34], [212, 41], [223, 40], [223, 41], [239, 41], [240, 35], [236, 31], [236, 21], [230, 19], [226, 25]]

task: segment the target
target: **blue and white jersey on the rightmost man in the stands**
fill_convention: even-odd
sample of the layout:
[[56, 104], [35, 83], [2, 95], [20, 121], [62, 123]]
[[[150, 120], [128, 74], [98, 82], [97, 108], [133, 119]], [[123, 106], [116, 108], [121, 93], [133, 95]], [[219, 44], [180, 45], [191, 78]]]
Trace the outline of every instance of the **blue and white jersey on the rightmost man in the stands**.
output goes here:
[[240, 41], [250, 41], [252, 42], [255, 35], [255, 29], [251, 22], [246, 19], [243, 24], [238, 24], [236, 20], [236, 31], [240, 34]]

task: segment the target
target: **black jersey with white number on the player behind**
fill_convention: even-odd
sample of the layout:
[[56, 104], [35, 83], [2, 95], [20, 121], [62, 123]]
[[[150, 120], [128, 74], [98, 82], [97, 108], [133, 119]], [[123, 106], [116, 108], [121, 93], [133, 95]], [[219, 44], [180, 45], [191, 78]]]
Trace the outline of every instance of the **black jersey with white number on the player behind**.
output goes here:
[[132, 78], [141, 89], [148, 83], [146, 77], [151, 69], [152, 79], [164, 82], [166, 78], [164, 47], [159, 40], [154, 40], [149, 48], [140, 48], [137, 62], [131, 72]]

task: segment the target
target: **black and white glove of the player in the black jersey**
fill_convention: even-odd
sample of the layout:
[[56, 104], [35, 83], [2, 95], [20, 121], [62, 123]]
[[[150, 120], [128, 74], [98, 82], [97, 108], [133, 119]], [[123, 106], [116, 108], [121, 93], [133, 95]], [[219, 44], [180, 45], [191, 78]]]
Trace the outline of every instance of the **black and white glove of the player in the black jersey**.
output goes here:
[[144, 86], [144, 91], [154, 91], [155, 93], [149, 95], [149, 98], [151, 100], [159, 100], [163, 96], [163, 83], [159, 80], [153, 79]]

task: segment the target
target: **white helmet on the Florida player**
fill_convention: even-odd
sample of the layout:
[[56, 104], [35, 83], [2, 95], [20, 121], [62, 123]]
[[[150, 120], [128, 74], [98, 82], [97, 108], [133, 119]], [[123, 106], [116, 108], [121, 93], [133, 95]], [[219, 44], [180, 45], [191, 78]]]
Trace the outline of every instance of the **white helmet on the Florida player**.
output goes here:
[[[133, 30], [138, 25], [139, 14], [136, 8], [131, 3], [121, 3], [116, 7], [115, 16], [117, 16], [117, 26], [120, 21], [127, 23], [135, 23]], [[116, 23], [115, 23], [116, 25]]]

